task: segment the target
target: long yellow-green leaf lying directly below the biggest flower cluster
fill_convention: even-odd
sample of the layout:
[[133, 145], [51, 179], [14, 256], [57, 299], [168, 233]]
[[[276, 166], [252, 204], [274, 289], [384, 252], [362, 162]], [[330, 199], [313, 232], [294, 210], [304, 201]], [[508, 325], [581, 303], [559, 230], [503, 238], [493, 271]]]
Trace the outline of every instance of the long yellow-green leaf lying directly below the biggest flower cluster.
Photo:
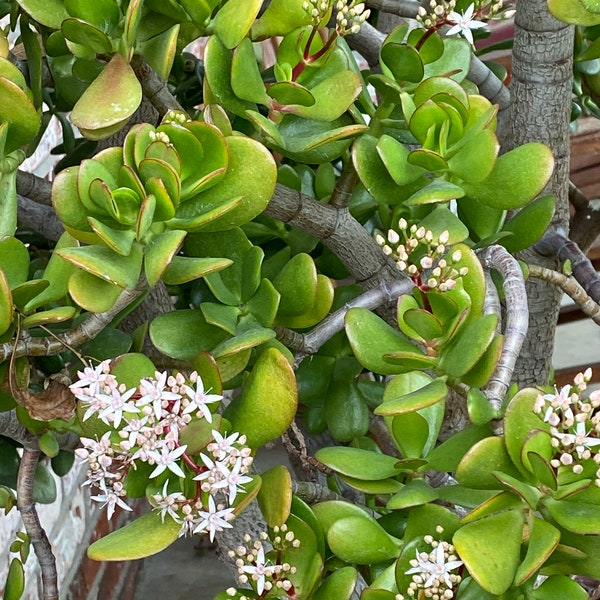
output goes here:
[[158, 512], [149, 512], [125, 527], [96, 540], [88, 548], [93, 560], [136, 560], [168, 548], [179, 534], [181, 525], [171, 517], [164, 523]]

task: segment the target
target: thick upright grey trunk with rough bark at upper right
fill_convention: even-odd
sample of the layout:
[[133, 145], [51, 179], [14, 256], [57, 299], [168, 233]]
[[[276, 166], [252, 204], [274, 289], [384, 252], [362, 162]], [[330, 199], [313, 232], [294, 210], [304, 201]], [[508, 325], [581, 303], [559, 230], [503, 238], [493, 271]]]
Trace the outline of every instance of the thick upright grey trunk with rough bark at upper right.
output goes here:
[[[550, 146], [555, 169], [547, 193], [556, 196], [553, 226], [568, 227], [569, 113], [573, 28], [554, 19], [546, 0], [518, 0], [505, 149], [538, 141]], [[522, 258], [556, 264], [533, 250]], [[541, 281], [528, 283], [529, 334], [515, 372], [522, 385], [548, 380], [561, 293]]]

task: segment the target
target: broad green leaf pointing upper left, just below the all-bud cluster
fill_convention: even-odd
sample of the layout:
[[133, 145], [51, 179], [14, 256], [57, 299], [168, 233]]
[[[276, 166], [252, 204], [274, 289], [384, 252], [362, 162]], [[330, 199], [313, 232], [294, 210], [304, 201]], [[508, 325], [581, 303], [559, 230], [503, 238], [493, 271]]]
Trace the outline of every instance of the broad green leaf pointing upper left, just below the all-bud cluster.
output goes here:
[[383, 375], [403, 373], [401, 366], [386, 362], [383, 355], [393, 352], [419, 354], [417, 346], [405, 335], [369, 310], [351, 308], [346, 313], [345, 323], [354, 355], [370, 371]]

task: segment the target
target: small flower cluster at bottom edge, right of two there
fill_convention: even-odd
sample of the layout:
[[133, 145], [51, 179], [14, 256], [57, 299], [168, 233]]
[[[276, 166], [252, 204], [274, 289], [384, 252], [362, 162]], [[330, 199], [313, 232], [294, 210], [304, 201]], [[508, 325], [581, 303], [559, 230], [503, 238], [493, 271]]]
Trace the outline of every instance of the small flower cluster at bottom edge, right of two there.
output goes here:
[[[436, 528], [443, 533], [443, 528]], [[410, 561], [411, 569], [405, 572], [412, 575], [412, 581], [406, 593], [411, 598], [432, 598], [432, 600], [449, 600], [454, 598], [453, 586], [461, 581], [460, 575], [452, 573], [462, 566], [454, 554], [454, 546], [443, 540], [436, 540], [431, 535], [423, 537], [423, 541], [431, 548], [429, 552], [416, 551], [416, 558]], [[397, 600], [404, 600], [402, 594]]]

